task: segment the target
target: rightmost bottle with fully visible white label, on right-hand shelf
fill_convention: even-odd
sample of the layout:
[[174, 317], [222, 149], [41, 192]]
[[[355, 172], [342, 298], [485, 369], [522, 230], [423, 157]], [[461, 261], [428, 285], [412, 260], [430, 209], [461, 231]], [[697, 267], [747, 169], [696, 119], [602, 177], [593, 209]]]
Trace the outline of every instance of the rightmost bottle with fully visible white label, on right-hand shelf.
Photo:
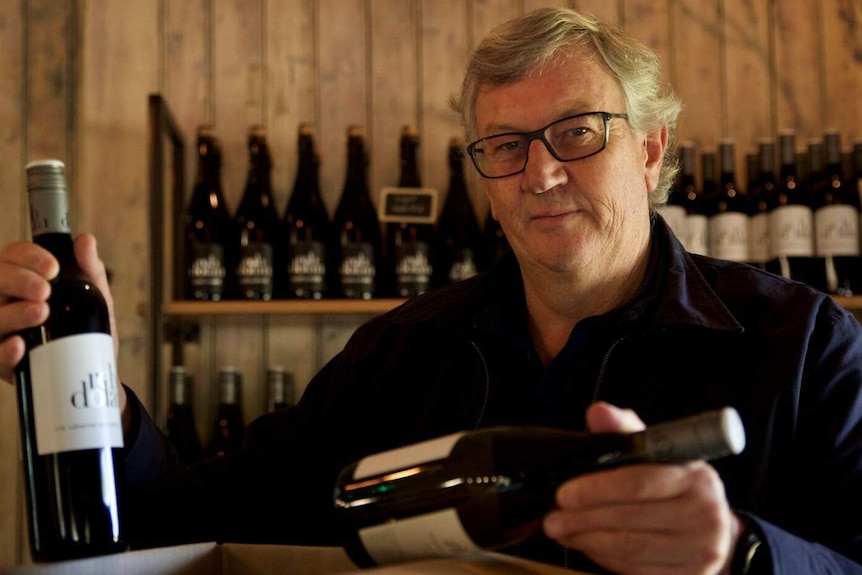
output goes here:
[[[860, 293], [859, 213], [860, 199], [855, 186], [844, 179], [841, 134], [824, 136], [825, 162], [817, 149], [809, 147], [812, 173], [822, 165], [822, 176], [812, 182], [814, 195], [814, 245], [826, 277], [826, 291], [849, 296]], [[817, 158], [815, 158], [817, 155]]]

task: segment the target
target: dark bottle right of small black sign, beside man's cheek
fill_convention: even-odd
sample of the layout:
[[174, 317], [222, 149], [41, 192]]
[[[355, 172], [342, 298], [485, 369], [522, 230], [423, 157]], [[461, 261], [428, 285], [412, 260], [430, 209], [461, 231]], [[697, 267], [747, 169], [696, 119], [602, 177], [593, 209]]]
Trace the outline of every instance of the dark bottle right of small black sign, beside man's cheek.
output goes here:
[[449, 191], [440, 219], [434, 248], [434, 284], [443, 286], [465, 280], [478, 272], [481, 231], [476, 210], [464, 178], [464, 141], [449, 142]]

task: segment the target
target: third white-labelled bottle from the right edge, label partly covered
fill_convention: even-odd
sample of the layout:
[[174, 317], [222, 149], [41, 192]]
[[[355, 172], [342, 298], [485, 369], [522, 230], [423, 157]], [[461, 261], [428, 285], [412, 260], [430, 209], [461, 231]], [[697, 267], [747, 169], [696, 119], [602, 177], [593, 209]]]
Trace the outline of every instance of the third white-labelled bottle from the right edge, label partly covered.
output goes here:
[[748, 258], [752, 265], [765, 269], [771, 258], [769, 246], [769, 202], [775, 194], [775, 142], [764, 139], [757, 146], [757, 182], [748, 194]]

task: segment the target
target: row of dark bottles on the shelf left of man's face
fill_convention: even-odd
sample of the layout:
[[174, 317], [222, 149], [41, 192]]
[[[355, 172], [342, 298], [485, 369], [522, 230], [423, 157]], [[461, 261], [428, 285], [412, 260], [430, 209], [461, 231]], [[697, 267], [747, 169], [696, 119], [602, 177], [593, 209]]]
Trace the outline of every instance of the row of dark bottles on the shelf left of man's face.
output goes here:
[[[489, 217], [480, 228], [467, 193], [463, 142], [448, 150], [450, 181], [432, 223], [382, 225], [368, 187], [368, 152], [358, 126], [347, 133], [347, 172], [332, 219], [319, 184], [310, 125], [299, 128], [299, 164], [282, 217], [273, 202], [272, 157], [261, 126], [248, 138], [248, 175], [236, 214], [221, 185], [221, 151], [208, 126], [198, 132], [198, 175], [185, 224], [185, 297], [196, 300], [411, 297], [486, 269], [507, 249]], [[400, 188], [421, 188], [419, 136], [401, 135]]]

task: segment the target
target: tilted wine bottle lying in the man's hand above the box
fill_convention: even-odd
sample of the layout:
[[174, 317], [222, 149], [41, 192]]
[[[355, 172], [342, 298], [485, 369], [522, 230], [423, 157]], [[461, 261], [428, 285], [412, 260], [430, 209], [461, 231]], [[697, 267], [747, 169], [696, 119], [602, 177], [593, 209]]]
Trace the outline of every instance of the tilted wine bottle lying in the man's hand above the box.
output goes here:
[[744, 445], [732, 408], [631, 434], [489, 427], [366, 457], [342, 470], [333, 499], [352, 559], [395, 563], [513, 545], [540, 529], [557, 487], [571, 477], [714, 459]]

